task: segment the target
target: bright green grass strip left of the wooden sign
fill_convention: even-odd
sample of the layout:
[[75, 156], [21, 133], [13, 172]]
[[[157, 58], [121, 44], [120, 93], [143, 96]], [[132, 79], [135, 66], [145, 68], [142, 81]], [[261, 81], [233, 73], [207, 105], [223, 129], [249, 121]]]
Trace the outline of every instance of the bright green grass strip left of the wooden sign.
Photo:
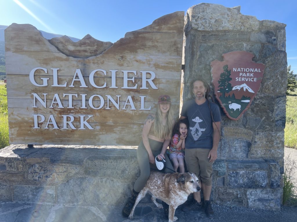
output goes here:
[[4, 84], [0, 85], [0, 149], [9, 145], [7, 93]]

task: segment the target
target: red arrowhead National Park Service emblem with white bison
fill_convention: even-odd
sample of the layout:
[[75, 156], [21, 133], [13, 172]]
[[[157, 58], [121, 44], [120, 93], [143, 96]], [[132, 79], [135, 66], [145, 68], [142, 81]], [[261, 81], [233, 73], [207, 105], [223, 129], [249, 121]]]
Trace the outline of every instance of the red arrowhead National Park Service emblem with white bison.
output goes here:
[[222, 57], [210, 63], [214, 93], [228, 118], [238, 120], [260, 89], [265, 65], [253, 62], [254, 54], [246, 51]]

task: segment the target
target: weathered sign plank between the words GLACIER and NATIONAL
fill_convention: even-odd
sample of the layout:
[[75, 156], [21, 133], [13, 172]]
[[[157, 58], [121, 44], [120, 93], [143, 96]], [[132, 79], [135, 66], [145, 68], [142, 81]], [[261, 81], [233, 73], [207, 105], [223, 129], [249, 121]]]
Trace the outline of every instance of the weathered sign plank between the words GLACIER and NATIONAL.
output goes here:
[[[40, 78], [45, 78], [46, 76], [38, 76], [38, 78], [35, 78], [35, 81], [38, 84], [42, 84], [42, 80]], [[67, 82], [67, 86], [69, 86], [72, 83], [73, 77], [59, 77], [59, 84], [62, 85]], [[96, 77], [94, 78], [94, 82], [98, 86], [102, 86], [106, 82], [106, 88], [98, 89], [91, 86], [89, 83], [89, 78], [84, 78], [86, 87], [79, 87], [80, 82], [75, 81], [74, 86], [75, 87], [52, 87], [51, 84], [53, 82], [49, 81], [48, 86], [34, 86], [30, 80], [29, 75], [7, 75], [7, 84], [9, 87], [7, 87], [7, 98], [13, 99], [13, 98], [20, 98], [20, 99], [31, 99], [33, 98], [32, 93], [37, 93], [40, 97], [43, 97], [42, 93], [47, 93], [47, 99], [53, 99], [54, 94], [59, 94], [59, 98], [63, 99], [63, 94], [87, 94], [86, 99], [89, 99], [90, 96], [94, 94], [101, 95], [105, 97], [105, 95], [111, 95], [113, 98], [116, 99], [116, 95], [120, 95], [121, 101], [126, 101], [127, 96], [131, 95], [135, 101], [140, 101], [139, 96], [146, 96], [145, 101], [148, 102], [155, 102], [157, 101], [158, 97], [162, 94], [167, 94], [171, 97], [172, 102], [179, 102], [179, 94], [176, 92], [180, 91], [180, 80], [173, 79], [155, 79], [153, 80], [153, 83], [158, 89], [152, 89], [149, 84], [147, 84], [147, 88], [149, 89], [140, 89], [140, 86], [142, 85], [142, 80], [140, 78], [135, 78], [135, 83], [132, 83], [132, 81], [128, 81], [129, 87], [134, 87], [137, 84], [137, 89], [121, 89], [123, 87], [123, 78], [116, 78], [116, 84], [118, 88], [109, 88], [111, 86], [111, 78], [108, 77]], [[79, 100], [73, 98], [74, 100]]]

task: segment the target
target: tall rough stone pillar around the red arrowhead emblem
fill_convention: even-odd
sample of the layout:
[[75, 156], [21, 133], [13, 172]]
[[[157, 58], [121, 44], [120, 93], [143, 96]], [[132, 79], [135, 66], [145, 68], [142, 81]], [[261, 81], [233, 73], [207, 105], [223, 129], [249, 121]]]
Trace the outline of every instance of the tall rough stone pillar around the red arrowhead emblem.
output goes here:
[[[280, 210], [287, 89], [285, 26], [242, 15], [240, 6], [201, 3], [187, 11], [184, 101], [191, 98], [189, 84], [195, 76], [202, 75], [211, 83], [210, 63], [222, 61], [224, 53], [252, 52], [253, 61], [265, 65], [260, 90], [244, 115], [231, 120], [221, 109], [222, 140], [211, 195], [218, 204]], [[212, 85], [211, 89], [215, 98]]]

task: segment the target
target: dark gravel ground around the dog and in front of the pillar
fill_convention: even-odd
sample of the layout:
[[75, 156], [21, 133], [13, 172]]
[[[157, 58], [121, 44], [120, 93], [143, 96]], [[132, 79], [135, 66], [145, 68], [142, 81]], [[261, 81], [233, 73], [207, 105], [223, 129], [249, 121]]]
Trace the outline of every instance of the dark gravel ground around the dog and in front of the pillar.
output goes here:
[[[136, 213], [137, 208], [150, 208], [150, 213]], [[163, 215], [163, 209], [158, 209], [154, 204], [144, 204], [136, 207], [133, 222], [168, 222]], [[291, 222], [297, 221], [297, 207], [282, 206], [280, 211], [251, 209], [246, 207], [226, 207], [212, 205], [215, 212], [215, 218], [207, 218], [204, 210], [195, 210], [183, 212], [181, 207], [175, 212], [178, 218], [176, 222]], [[140, 210], [141, 211], [141, 210]], [[108, 218], [109, 219], [109, 218]], [[110, 220], [108, 220], [110, 221]], [[121, 215], [113, 222], [129, 222], [129, 219], [123, 220]], [[110, 221], [111, 222], [111, 221]], [[132, 222], [132, 221], [131, 221]]]

